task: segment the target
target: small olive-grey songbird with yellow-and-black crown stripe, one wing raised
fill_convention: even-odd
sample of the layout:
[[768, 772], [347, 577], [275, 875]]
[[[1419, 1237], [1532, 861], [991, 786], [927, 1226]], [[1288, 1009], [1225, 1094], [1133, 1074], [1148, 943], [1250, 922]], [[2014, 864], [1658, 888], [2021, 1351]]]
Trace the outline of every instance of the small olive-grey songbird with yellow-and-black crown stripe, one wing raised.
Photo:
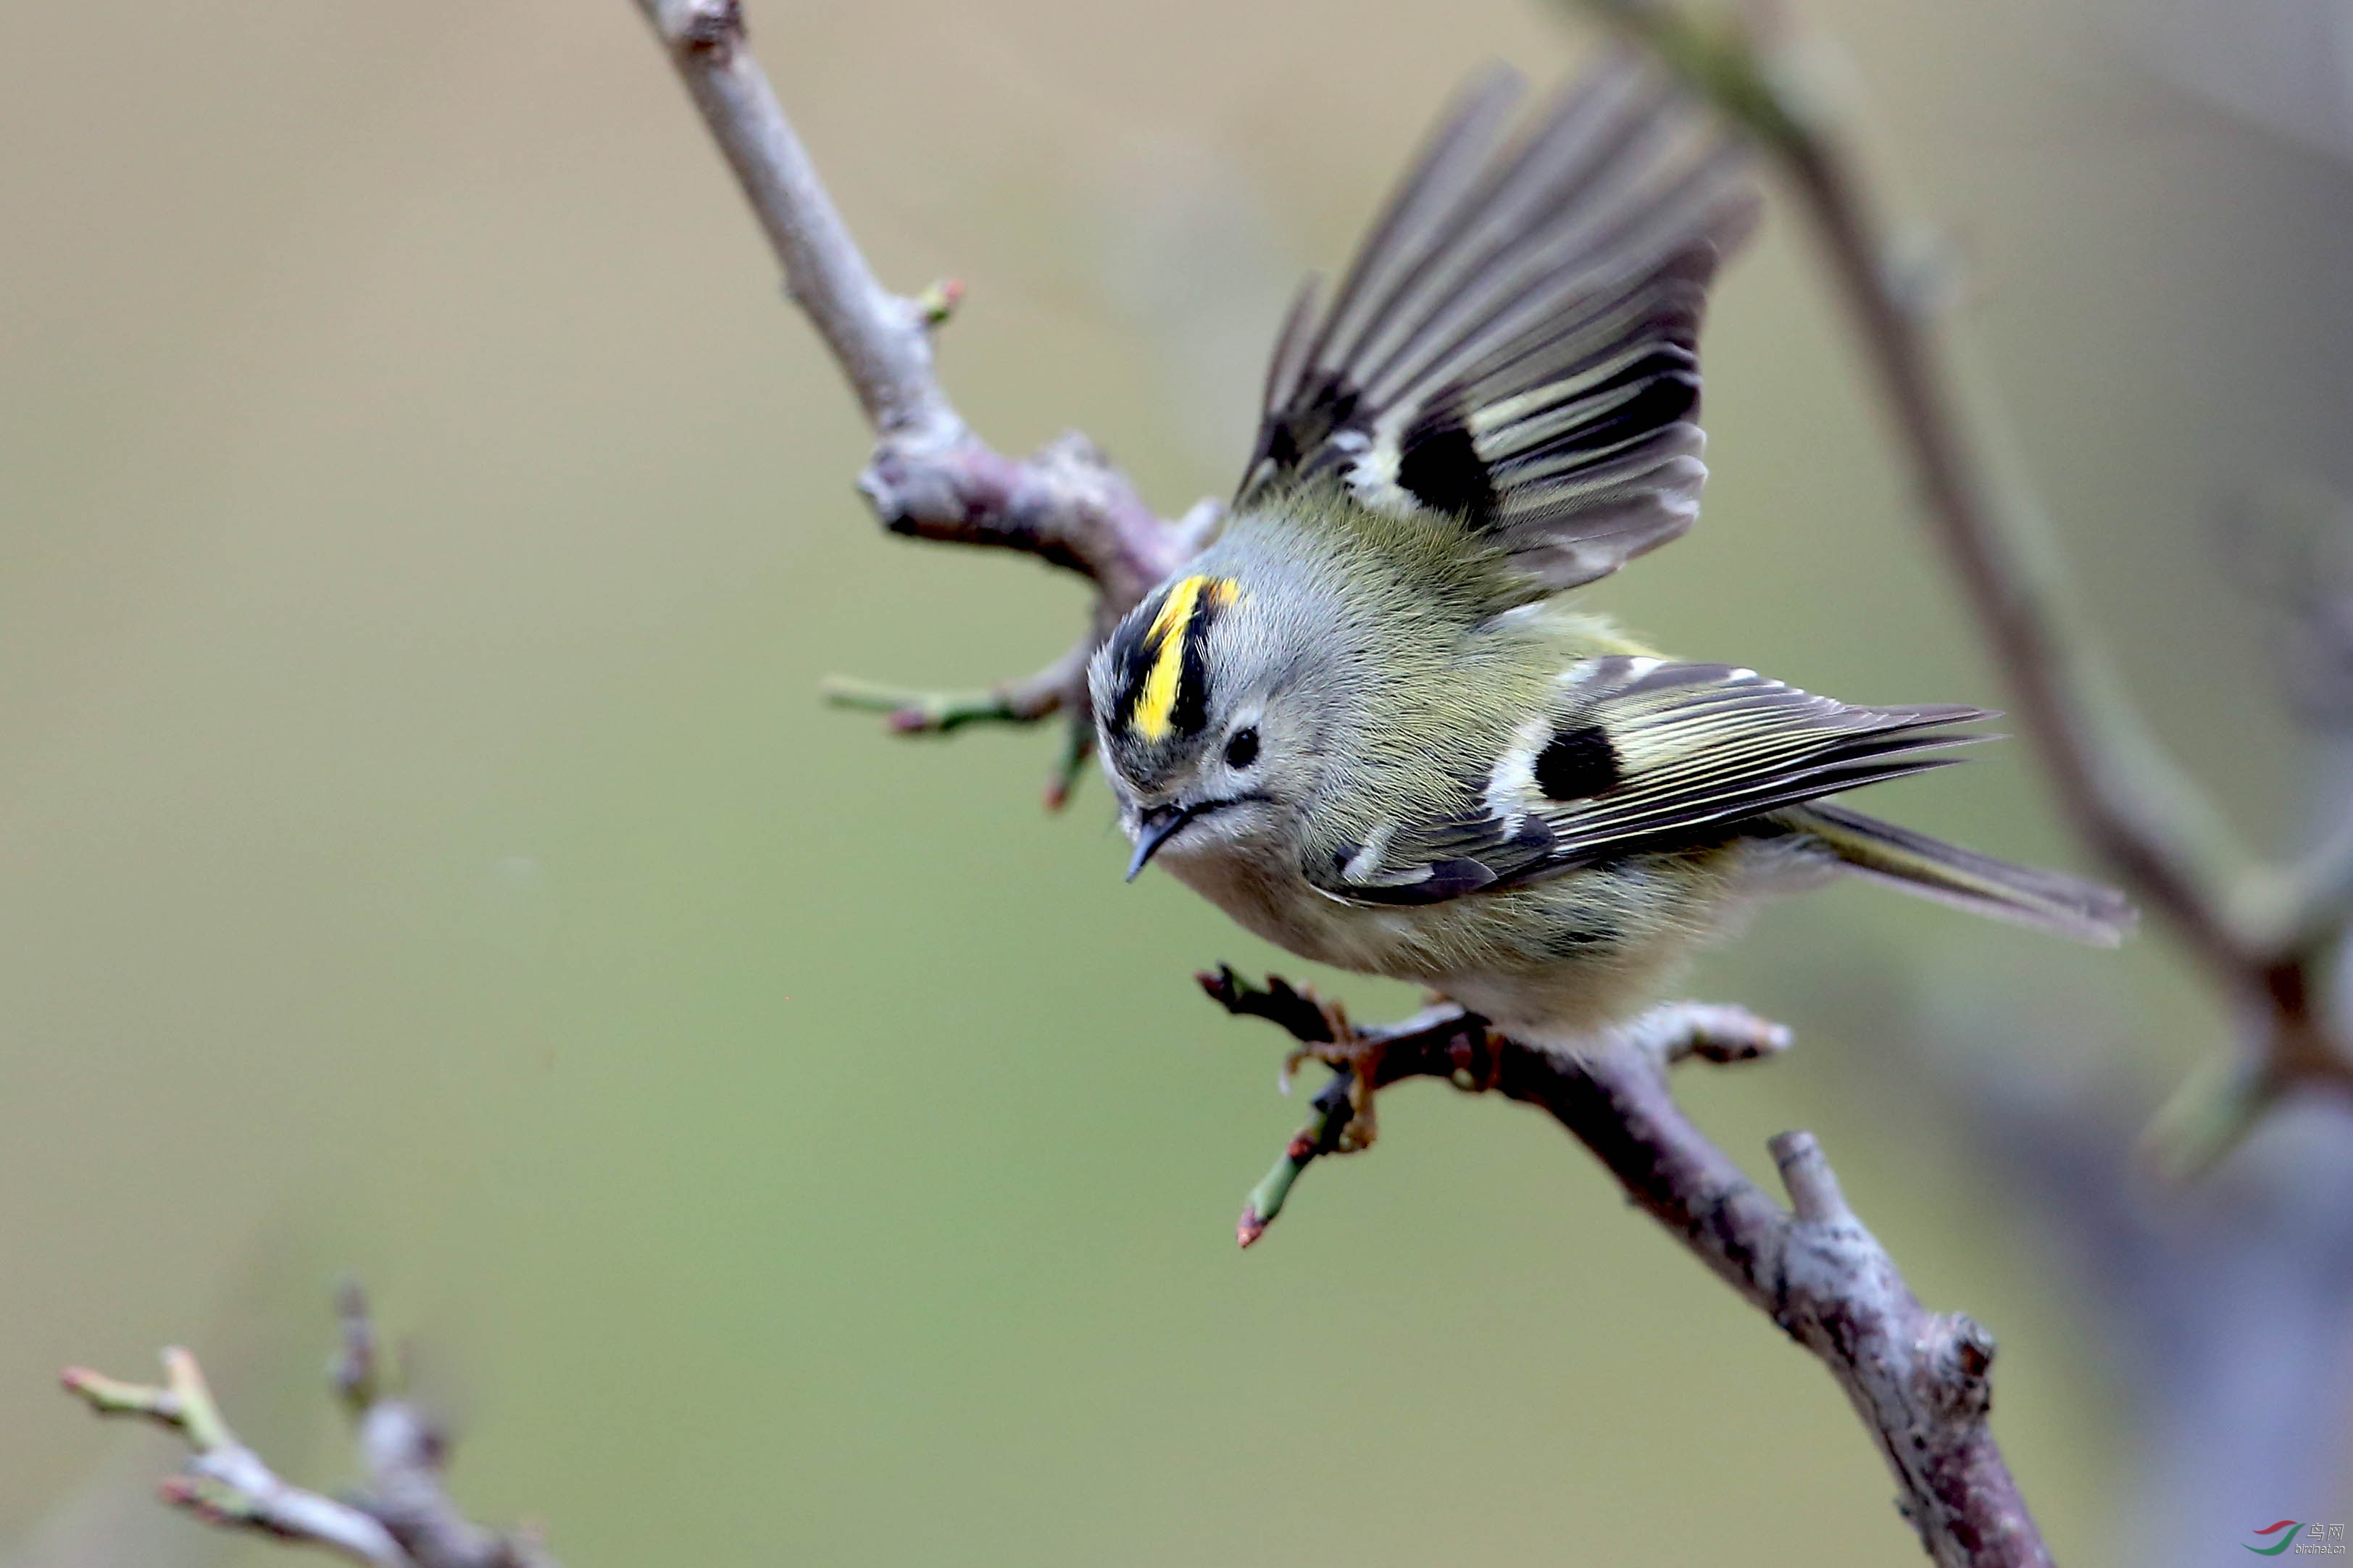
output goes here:
[[1988, 713], [1682, 664], [1562, 598], [1699, 509], [1699, 320], [1758, 198], [1633, 61], [1508, 134], [1518, 97], [1473, 82], [1301, 292], [1219, 537], [1087, 671], [1129, 878], [1567, 1048], [1835, 871], [2118, 942], [2118, 892], [1826, 803]]

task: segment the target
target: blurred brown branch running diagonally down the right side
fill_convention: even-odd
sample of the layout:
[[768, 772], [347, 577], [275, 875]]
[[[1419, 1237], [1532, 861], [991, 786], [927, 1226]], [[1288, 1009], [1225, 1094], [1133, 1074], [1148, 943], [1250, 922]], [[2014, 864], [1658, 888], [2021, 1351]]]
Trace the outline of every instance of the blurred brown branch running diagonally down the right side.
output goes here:
[[2353, 833], [2299, 866], [2257, 862], [2155, 742], [2078, 626], [2049, 525], [2024, 478], [1962, 417], [1918, 290], [1847, 148], [1809, 40], [1779, 7], [1704, 24], [1668, 0], [1581, 0], [1708, 94], [1781, 165], [1887, 396], [1920, 501], [2089, 848], [2162, 911], [2245, 1024], [2233, 1057], [2184, 1085], [2153, 1128], [2200, 1168], [2301, 1083], [2353, 1085], [2353, 1052], [2313, 1005], [2353, 906]]

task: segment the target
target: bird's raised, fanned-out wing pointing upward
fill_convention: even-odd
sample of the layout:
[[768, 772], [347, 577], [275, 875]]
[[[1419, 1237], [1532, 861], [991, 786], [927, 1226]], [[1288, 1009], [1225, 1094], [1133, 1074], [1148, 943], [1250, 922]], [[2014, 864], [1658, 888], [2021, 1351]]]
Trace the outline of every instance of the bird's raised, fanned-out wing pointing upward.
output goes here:
[[1471, 82], [1266, 374], [1240, 504], [1318, 478], [1459, 518], [1537, 591], [1614, 572], [1699, 511], [1699, 320], [1748, 233], [1739, 148], [1614, 57], [1506, 137]]

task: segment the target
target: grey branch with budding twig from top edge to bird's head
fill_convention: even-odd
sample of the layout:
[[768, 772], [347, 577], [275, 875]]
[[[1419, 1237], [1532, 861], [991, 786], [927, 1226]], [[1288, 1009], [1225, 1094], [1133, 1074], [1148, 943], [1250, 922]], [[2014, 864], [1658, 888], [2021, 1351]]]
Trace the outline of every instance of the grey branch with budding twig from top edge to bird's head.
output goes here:
[[1136, 600], [1200, 549], [1217, 506], [1167, 523], [1085, 436], [1068, 433], [1026, 459], [991, 450], [948, 403], [932, 367], [932, 327], [960, 287], [920, 299], [885, 290], [833, 207], [800, 137], [744, 40], [736, 0], [638, 0], [704, 125], [727, 155], [760, 231], [784, 264], [793, 304], [816, 325], [875, 428], [859, 478], [882, 525], [948, 544], [1014, 549], [1080, 572], [1096, 605], [1075, 657], [979, 699], [892, 692], [894, 730], [944, 732], [972, 720], [1035, 723], [1066, 713], [1071, 742], [1047, 800], [1059, 805], [1092, 737], [1087, 655]]

